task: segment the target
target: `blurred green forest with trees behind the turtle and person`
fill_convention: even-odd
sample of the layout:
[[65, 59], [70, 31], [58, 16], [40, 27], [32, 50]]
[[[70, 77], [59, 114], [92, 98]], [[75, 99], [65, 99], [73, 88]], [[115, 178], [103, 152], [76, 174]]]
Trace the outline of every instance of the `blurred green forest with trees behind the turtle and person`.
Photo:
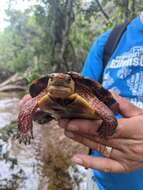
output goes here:
[[23, 11], [14, 3], [8, 1], [8, 25], [0, 32], [0, 72], [29, 81], [51, 72], [80, 72], [102, 32], [143, 10], [142, 0], [37, 0]]

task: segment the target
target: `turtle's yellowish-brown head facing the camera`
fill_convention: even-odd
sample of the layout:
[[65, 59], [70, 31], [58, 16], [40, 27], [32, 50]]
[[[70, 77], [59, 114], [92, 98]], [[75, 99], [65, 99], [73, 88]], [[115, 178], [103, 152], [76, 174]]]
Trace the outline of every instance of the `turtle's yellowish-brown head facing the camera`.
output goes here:
[[52, 73], [49, 75], [48, 92], [55, 98], [65, 98], [75, 91], [74, 80], [68, 74]]

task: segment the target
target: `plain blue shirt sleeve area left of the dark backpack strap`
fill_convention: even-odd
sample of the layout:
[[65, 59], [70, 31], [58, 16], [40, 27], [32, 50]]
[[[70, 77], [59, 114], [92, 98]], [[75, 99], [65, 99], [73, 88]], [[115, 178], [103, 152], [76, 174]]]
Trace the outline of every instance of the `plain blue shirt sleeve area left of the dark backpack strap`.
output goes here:
[[81, 71], [82, 76], [86, 76], [97, 81], [100, 79], [100, 75], [103, 70], [103, 50], [110, 32], [111, 30], [103, 33], [91, 46]]

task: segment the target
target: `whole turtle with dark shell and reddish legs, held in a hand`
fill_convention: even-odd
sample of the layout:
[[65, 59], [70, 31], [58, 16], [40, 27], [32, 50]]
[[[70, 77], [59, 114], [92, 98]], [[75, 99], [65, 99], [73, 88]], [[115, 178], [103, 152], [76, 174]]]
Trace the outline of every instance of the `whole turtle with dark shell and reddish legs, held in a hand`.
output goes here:
[[19, 142], [30, 143], [34, 118], [38, 118], [39, 123], [65, 118], [102, 120], [97, 130], [102, 137], [113, 135], [118, 125], [114, 115], [119, 106], [111, 92], [79, 73], [70, 71], [43, 76], [32, 82], [29, 94], [31, 98], [18, 115]]

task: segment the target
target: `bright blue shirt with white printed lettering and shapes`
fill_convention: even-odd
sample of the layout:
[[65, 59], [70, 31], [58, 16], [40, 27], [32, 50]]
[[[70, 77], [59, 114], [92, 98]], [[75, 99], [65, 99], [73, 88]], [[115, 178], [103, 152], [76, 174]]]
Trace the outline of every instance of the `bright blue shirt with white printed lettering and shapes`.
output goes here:
[[[83, 76], [99, 80], [103, 49], [110, 32], [105, 32], [93, 43], [82, 70]], [[129, 23], [104, 69], [103, 86], [143, 108], [143, 23], [138, 17]], [[92, 151], [92, 155], [101, 156], [97, 151]], [[143, 189], [143, 169], [118, 174], [94, 170], [94, 176], [100, 190]]]

